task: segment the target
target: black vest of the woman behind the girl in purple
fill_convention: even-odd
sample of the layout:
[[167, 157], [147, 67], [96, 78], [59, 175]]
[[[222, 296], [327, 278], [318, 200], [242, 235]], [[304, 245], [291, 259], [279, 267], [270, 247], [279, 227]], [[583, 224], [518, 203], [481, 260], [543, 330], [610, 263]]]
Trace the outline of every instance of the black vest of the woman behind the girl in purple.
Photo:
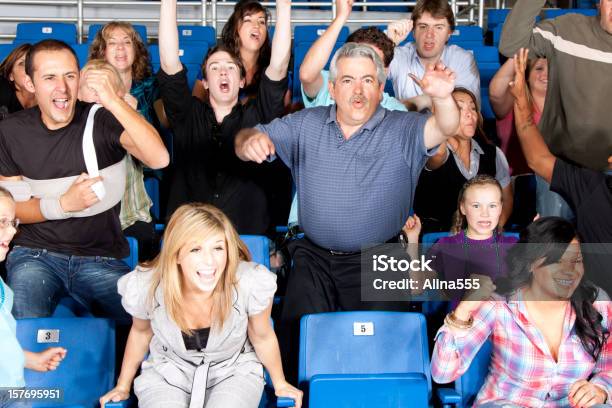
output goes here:
[[[477, 174], [488, 174], [495, 177], [495, 159], [497, 150], [490, 143], [480, 143], [484, 154], [480, 155]], [[453, 153], [449, 152], [446, 162], [436, 170], [421, 172], [414, 197], [414, 212], [427, 224], [424, 233], [448, 231], [451, 228], [453, 214], [457, 210], [457, 197], [467, 179], [461, 174]], [[431, 228], [436, 226], [436, 228]]]

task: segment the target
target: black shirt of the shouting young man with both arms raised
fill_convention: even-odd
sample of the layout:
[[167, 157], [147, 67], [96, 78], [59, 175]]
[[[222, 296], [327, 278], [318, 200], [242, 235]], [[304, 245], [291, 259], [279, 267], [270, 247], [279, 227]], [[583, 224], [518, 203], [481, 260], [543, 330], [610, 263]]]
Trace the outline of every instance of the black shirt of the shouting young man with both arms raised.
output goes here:
[[184, 67], [174, 75], [159, 70], [157, 77], [174, 133], [175, 169], [168, 215], [181, 204], [205, 202], [223, 210], [239, 233], [266, 233], [273, 227], [275, 201], [281, 196], [281, 201], [290, 200], [289, 170], [280, 160], [263, 164], [241, 161], [234, 151], [234, 138], [243, 128], [268, 123], [283, 114], [287, 79], [272, 81], [264, 75], [257, 98], [245, 105], [237, 103], [218, 123], [210, 104], [191, 95]]

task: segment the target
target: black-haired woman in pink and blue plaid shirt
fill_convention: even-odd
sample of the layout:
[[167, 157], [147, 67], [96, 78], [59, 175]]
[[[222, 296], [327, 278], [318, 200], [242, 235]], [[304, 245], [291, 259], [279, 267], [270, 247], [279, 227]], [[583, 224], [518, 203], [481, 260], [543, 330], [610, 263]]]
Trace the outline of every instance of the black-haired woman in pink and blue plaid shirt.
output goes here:
[[504, 296], [485, 282], [444, 320], [432, 357], [434, 380], [460, 377], [491, 338], [489, 374], [474, 406], [610, 403], [612, 304], [596, 301], [598, 289], [582, 279], [577, 244], [573, 226], [562, 218], [527, 227], [508, 253], [510, 278], [503, 285], [496, 281]]

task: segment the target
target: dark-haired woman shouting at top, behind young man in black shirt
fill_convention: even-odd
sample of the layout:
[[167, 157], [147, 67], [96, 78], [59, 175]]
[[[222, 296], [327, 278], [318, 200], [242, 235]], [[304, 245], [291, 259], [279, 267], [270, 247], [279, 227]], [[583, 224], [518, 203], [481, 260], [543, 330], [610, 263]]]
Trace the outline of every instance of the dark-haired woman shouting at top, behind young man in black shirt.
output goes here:
[[[234, 6], [234, 12], [223, 26], [221, 42], [237, 55], [246, 69], [246, 81], [240, 90], [240, 100], [245, 103], [257, 96], [261, 77], [270, 65], [272, 47], [268, 37], [270, 12], [257, 0], [242, 0]], [[202, 79], [201, 76], [198, 79]], [[193, 95], [201, 100], [206, 99], [206, 90], [202, 81], [196, 81]], [[287, 91], [285, 105], [291, 102]]]

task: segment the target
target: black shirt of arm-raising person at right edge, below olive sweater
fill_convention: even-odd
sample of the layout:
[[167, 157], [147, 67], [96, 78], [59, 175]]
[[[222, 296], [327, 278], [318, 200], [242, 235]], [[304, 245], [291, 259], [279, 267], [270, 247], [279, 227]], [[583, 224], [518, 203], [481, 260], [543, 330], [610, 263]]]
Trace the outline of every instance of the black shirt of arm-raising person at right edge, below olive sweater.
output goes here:
[[587, 277], [612, 295], [612, 176], [557, 159], [550, 189], [576, 214]]

